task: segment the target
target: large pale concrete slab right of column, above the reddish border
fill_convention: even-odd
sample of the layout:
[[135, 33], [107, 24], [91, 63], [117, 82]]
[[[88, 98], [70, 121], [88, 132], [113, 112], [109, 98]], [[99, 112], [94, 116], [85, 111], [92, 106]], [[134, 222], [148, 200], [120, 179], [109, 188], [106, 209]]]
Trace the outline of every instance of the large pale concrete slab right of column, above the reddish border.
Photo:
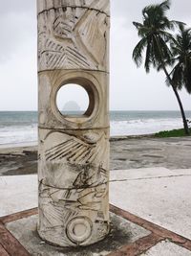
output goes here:
[[111, 180], [112, 204], [191, 239], [191, 169], [115, 171]]

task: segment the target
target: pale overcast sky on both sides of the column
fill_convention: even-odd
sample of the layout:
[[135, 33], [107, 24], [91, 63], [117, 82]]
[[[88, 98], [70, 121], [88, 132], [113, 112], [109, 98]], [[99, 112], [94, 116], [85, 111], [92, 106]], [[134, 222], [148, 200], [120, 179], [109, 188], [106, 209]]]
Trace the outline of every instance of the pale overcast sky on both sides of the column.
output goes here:
[[[111, 0], [112, 110], [177, 110], [172, 89], [163, 73], [147, 75], [132, 60], [138, 43], [132, 21], [141, 22], [141, 10], [155, 0]], [[191, 27], [191, 0], [172, 0], [169, 17]], [[0, 8], [0, 110], [37, 109], [35, 0], [6, 0]], [[180, 92], [185, 109], [191, 109], [191, 95]], [[70, 99], [71, 100], [71, 99]], [[83, 100], [83, 99], [82, 99]], [[83, 104], [82, 104], [83, 105]]]

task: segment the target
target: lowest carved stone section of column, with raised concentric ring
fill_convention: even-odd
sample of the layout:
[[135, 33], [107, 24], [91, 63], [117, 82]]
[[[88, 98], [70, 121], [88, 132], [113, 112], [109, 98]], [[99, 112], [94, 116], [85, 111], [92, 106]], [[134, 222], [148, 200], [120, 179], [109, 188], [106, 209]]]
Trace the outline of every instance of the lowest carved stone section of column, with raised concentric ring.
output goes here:
[[[88, 239], [94, 243], [108, 232], [109, 223], [104, 205], [108, 195], [107, 184], [95, 188], [65, 190], [40, 183], [39, 195], [40, 234], [52, 242], [56, 239], [55, 244], [82, 245]], [[89, 216], [91, 221], [87, 221]], [[82, 223], [84, 226], [81, 226]]]

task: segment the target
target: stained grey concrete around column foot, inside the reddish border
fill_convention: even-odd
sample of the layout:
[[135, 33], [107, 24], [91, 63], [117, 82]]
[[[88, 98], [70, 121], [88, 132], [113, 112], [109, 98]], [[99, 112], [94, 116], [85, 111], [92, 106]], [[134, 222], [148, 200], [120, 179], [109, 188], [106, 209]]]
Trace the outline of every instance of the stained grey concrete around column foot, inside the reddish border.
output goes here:
[[43, 242], [36, 232], [37, 216], [11, 221], [6, 224], [11, 234], [31, 253], [41, 256], [104, 256], [117, 250], [125, 244], [131, 244], [138, 239], [151, 234], [150, 231], [135, 223], [126, 221], [115, 214], [111, 214], [111, 233], [99, 242], [88, 247], [61, 248]]

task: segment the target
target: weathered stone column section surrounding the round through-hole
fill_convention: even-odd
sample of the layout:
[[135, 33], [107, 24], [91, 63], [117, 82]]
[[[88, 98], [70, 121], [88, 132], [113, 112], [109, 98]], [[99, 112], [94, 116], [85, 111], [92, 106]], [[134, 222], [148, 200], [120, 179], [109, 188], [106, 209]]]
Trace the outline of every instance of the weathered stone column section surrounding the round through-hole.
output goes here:
[[[39, 127], [67, 130], [109, 128], [109, 75], [105, 72], [55, 70], [39, 73]], [[64, 84], [84, 87], [90, 105], [83, 116], [63, 117], [56, 105], [56, 94]]]

